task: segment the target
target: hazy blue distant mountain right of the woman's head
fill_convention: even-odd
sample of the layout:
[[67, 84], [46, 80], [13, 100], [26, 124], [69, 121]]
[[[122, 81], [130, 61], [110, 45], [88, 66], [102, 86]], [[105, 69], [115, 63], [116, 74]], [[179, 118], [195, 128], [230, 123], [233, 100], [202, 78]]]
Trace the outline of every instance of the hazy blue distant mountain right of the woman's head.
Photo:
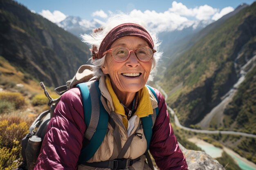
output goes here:
[[[218, 26], [220, 26], [222, 23], [224, 23], [227, 19], [230, 17], [236, 15], [240, 10], [244, 9], [245, 7], [248, 7], [248, 4], [240, 4], [234, 11], [222, 16], [219, 20], [216, 22], [211, 21], [201, 21], [198, 23], [198, 25], [192, 26], [192, 31], [189, 33], [183, 33], [179, 32], [174, 35], [174, 39], [176, 39], [174, 42], [170, 42], [167, 45], [164, 44], [164, 56], [167, 57], [163, 59], [163, 66], [169, 66], [175, 58], [181, 56], [184, 54], [191, 46], [193, 46], [196, 42], [198, 42], [200, 39], [202, 39], [205, 35], [207, 35], [211, 30], [216, 29]], [[204, 28], [205, 27], [205, 28]], [[203, 29], [204, 28], [204, 29]], [[179, 38], [175, 38], [179, 36]], [[173, 39], [173, 37], [170, 37], [170, 39]]]

